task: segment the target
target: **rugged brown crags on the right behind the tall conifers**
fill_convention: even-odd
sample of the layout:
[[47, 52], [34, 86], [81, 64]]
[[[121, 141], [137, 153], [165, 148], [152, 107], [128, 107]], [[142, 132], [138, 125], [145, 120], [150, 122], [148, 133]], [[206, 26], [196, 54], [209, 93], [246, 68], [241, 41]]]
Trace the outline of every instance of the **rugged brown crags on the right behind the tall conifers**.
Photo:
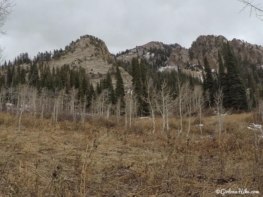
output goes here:
[[[217, 69], [218, 52], [222, 50], [223, 44], [226, 42], [227, 39], [224, 36], [199, 36], [189, 49], [182, 47], [173, 49], [169, 57], [169, 65], [178, 65], [184, 68], [187, 61], [190, 65], [195, 65], [198, 61], [203, 64], [203, 59], [206, 57], [210, 66]], [[247, 58], [248, 61], [256, 64], [258, 67], [262, 65], [260, 59], [263, 59], [263, 47], [235, 38], [229, 41], [229, 44], [241, 60]]]

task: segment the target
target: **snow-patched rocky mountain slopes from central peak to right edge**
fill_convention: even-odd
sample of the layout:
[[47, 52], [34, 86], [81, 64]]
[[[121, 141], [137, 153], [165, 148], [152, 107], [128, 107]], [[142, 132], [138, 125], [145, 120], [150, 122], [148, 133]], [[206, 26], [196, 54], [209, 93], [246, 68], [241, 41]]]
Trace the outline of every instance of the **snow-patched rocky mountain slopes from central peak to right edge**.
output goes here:
[[[132, 57], [143, 57], [150, 65], [155, 65], [156, 71], [169, 71], [179, 67], [184, 72], [201, 76], [200, 72], [203, 70], [204, 57], [207, 57], [213, 69], [217, 69], [218, 52], [222, 51], [227, 41], [224, 36], [199, 36], [189, 49], [179, 44], [166, 45], [162, 42], [149, 42], [145, 45], [122, 51], [116, 55], [116, 59], [131, 61]], [[233, 47], [239, 61], [249, 62], [257, 68], [263, 65], [263, 47], [235, 38], [228, 42]], [[159, 51], [159, 53], [153, 53], [153, 51]], [[160, 51], [163, 51], [163, 54], [165, 54], [163, 59]], [[189, 63], [189, 67], [186, 67], [187, 62]], [[198, 65], [198, 62], [200, 62], [200, 65]]]

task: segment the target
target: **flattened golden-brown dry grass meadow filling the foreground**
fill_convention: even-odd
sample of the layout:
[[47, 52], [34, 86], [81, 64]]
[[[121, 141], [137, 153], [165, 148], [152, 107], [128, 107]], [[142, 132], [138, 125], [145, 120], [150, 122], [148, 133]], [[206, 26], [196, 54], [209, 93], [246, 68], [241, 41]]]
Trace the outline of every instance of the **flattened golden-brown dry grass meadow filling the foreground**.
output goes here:
[[114, 117], [52, 124], [24, 116], [14, 147], [17, 117], [1, 113], [0, 194], [210, 197], [219, 196], [220, 188], [247, 188], [262, 195], [263, 144], [255, 146], [254, 132], [242, 127], [251, 123], [251, 114], [225, 117], [220, 143], [208, 137], [216, 119], [203, 121], [205, 137], [193, 125], [187, 139], [177, 136], [175, 117], [169, 133], [150, 134], [147, 119], [125, 128]]

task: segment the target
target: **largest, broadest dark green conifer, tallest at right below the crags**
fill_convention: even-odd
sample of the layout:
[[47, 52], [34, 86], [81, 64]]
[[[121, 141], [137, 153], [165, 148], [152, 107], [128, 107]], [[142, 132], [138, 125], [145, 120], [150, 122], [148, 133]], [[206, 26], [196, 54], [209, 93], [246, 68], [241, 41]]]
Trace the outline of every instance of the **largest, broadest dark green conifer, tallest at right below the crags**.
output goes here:
[[229, 43], [227, 43], [225, 65], [227, 68], [227, 88], [224, 94], [225, 107], [246, 110], [248, 108], [248, 103], [244, 82], [241, 77], [241, 70], [236, 63], [236, 57]]

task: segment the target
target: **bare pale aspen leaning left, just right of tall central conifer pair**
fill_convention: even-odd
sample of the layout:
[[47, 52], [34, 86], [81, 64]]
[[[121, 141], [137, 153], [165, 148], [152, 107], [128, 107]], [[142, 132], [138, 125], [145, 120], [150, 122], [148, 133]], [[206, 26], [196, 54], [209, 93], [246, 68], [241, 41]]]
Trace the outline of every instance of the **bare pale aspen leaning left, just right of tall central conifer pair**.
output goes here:
[[152, 133], [155, 133], [155, 113], [157, 111], [156, 106], [156, 93], [152, 88], [153, 82], [150, 78], [146, 79], [146, 97], [142, 97], [142, 99], [148, 104], [150, 108], [152, 123], [153, 123], [153, 131]]

